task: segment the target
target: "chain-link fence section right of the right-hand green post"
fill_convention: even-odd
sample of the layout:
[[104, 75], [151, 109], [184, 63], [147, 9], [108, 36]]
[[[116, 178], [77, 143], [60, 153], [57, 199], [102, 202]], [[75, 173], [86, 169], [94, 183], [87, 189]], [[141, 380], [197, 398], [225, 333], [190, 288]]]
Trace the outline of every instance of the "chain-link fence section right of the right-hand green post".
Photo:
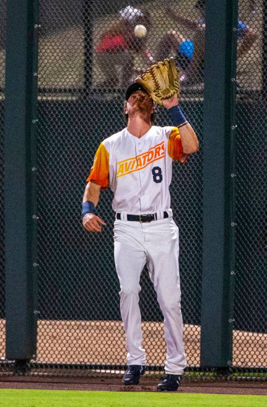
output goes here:
[[[238, 60], [233, 366], [266, 367], [266, 4], [241, 2], [253, 46]], [[246, 33], [245, 33], [246, 35]], [[255, 41], [254, 41], [255, 38]], [[242, 50], [241, 50], [242, 51]]]

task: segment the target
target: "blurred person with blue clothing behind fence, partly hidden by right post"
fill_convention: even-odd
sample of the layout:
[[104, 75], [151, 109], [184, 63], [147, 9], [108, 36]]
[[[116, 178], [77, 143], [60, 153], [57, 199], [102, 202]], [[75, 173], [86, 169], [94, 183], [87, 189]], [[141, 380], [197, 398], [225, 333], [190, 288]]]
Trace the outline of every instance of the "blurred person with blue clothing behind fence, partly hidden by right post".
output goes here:
[[[186, 27], [190, 32], [193, 32], [194, 35], [190, 39], [179, 31], [169, 30], [159, 41], [155, 51], [155, 59], [158, 61], [174, 51], [176, 53], [177, 66], [182, 69], [180, 80], [187, 81], [187, 83], [197, 82], [203, 78], [205, 0], [198, 0], [195, 8], [198, 10], [199, 15], [196, 21], [193, 21], [182, 17], [180, 14], [175, 13], [172, 8], [167, 7], [166, 12], [169, 17]], [[239, 40], [238, 56], [242, 57], [254, 44], [257, 34], [255, 30], [241, 19], [238, 20], [237, 30]]]

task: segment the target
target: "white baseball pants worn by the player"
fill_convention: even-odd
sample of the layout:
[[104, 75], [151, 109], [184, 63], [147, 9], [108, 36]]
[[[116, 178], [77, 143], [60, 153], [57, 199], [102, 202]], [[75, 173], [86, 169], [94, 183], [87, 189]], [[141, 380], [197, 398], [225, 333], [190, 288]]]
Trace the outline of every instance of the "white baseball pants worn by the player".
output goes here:
[[171, 217], [149, 223], [116, 220], [114, 258], [121, 284], [120, 305], [126, 333], [128, 365], [146, 363], [145, 351], [141, 346], [139, 280], [141, 271], [147, 264], [164, 316], [167, 344], [165, 372], [182, 374], [186, 367], [186, 355], [180, 306], [178, 227]]

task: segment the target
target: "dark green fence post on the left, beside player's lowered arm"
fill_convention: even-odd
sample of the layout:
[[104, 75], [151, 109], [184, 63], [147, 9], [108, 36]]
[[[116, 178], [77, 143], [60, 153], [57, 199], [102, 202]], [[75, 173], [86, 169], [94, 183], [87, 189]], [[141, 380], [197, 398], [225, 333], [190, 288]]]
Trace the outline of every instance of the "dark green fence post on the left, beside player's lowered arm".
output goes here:
[[6, 358], [35, 357], [35, 127], [38, 0], [7, 2], [5, 100]]

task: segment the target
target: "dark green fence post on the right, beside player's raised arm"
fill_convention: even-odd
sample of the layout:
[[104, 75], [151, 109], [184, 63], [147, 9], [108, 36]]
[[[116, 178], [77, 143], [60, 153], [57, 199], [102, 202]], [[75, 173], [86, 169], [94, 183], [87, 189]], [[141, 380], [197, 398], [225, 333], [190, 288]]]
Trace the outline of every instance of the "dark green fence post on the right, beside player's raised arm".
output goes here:
[[201, 367], [232, 361], [237, 0], [206, 0]]

